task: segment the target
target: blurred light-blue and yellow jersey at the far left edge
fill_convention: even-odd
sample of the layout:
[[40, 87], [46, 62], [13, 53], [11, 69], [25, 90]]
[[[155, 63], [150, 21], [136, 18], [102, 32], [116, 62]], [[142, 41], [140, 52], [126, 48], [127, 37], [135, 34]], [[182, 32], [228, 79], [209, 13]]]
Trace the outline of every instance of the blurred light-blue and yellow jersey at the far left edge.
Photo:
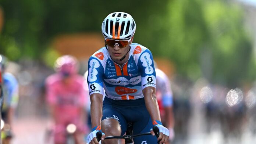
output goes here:
[[9, 107], [16, 108], [18, 104], [19, 85], [17, 79], [11, 73], [3, 74], [3, 111]]

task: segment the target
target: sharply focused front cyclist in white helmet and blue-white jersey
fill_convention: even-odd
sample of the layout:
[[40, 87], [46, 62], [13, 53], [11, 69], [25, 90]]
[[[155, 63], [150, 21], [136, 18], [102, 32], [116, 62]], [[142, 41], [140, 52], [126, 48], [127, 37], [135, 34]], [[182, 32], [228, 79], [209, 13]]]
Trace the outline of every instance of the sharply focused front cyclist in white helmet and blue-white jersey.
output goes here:
[[[96, 133], [102, 129], [102, 143], [116, 144], [116, 139], [104, 140], [105, 135], [123, 135], [127, 122], [133, 123], [134, 134], [151, 130], [154, 135], [152, 127], [156, 125], [160, 143], [169, 138], [169, 130], [161, 124], [156, 100], [153, 56], [146, 47], [132, 43], [135, 29], [134, 19], [125, 12], [113, 12], [102, 23], [105, 47], [96, 51], [88, 62], [93, 129], [87, 143], [98, 144]], [[134, 138], [136, 144], [156, 142], [154, 136]]]

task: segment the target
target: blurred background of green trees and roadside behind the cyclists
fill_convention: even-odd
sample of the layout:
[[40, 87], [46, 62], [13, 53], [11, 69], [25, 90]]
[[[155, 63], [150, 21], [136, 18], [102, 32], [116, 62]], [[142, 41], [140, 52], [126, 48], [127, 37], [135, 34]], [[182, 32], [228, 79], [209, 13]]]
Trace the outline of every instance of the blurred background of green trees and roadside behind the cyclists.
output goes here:
[[171, 80], [173, 143], [256, 143], [255, 0], [0, 0], [0, 54], [20, 86], [13, 144], [43, 144], [54, 61], [71, 54], [83, 75], [115, 11], [132, 15], [134, 42]]

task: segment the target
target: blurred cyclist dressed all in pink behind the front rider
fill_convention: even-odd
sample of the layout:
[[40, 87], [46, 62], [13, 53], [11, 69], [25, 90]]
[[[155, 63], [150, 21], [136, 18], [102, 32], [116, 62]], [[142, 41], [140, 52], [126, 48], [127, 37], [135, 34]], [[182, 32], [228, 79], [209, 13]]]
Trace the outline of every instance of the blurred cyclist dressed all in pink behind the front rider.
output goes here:
[[83, 142], [86, 125], [84, 111], [86, 97], [83, 87], [84, 78], [78, 74], [78, 62], [75, 57], [64, 55], [55, 63], [56, 73], [46, 79], [46, 98], [51, 116], [55, 122], [54, 143], [66, 141], [66, 127], [74, 124], [76, 144]]

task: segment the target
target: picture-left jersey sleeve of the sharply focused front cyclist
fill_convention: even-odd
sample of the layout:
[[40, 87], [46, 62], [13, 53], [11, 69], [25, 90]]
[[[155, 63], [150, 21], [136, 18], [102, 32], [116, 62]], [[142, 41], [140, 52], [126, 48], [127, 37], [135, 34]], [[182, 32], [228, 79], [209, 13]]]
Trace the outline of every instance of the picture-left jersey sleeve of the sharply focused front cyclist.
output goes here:
[[103, 92], [104, 68], [97, 58], [90, 57], [88, 62], [88, 88], [89, 95], [94, 93], [104, 94]]

